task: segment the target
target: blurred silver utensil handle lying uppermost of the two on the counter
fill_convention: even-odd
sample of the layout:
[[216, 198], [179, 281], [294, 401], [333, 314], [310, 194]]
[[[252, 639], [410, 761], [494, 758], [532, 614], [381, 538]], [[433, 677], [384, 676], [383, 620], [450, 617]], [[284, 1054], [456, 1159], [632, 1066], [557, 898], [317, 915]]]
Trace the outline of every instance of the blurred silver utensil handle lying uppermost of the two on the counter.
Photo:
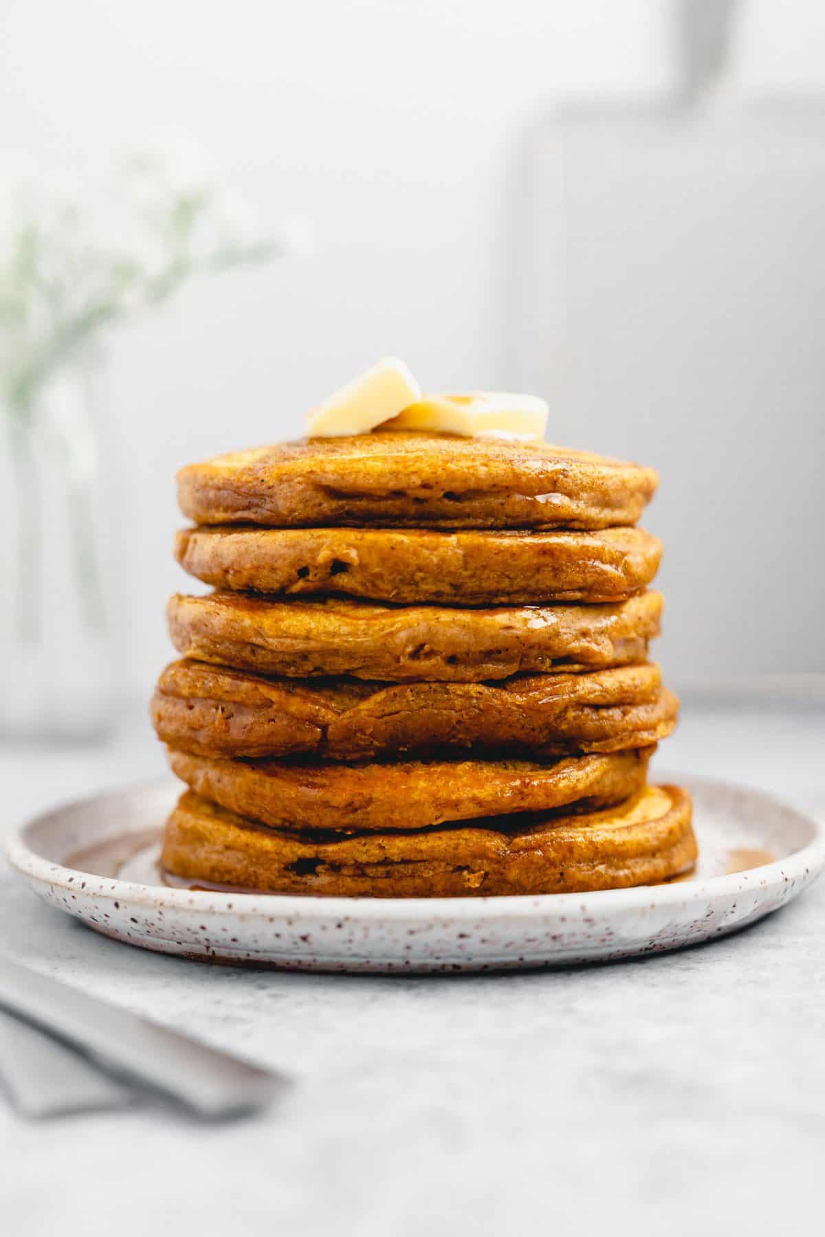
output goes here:
[[284, 1075], [257, 1069], [4, 957], [0, 1006], [74, 1045], [116, 1079], [153, 1087], [202, 1117], [259, 1111], [287, 1084]]

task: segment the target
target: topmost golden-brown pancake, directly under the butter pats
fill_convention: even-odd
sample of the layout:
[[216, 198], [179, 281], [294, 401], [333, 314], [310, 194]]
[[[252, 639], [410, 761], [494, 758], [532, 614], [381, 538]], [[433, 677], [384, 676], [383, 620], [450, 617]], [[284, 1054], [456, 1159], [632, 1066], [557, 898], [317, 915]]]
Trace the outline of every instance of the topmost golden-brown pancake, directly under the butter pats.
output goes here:
[[610, 528], [656, 486], [653, 469], [549, 443], [378, 430], [190, 464], [178, 501], [200, 524]]

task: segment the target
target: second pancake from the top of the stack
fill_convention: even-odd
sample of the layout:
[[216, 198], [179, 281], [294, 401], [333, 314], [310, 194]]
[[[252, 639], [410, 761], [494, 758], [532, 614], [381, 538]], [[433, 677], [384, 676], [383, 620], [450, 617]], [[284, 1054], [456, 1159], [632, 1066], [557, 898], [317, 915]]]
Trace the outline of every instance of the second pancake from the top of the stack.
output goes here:
[[178, 563], [218, 589], [339, 593], [375, 601], [531, 605], [622, 601], [653, 579], [662, 543], [642, 528], [187, 528]]

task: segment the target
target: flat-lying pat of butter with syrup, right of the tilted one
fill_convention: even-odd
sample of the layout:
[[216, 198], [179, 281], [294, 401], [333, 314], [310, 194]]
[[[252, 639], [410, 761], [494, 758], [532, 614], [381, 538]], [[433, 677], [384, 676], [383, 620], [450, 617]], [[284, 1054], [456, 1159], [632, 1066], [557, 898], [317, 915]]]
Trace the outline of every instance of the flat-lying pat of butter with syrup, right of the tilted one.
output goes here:
[[387, 429], [427, 429], [468, 438], [543, 438], [547, 402], [534, 395], [469, 391], [430, 395], [393, 418]]

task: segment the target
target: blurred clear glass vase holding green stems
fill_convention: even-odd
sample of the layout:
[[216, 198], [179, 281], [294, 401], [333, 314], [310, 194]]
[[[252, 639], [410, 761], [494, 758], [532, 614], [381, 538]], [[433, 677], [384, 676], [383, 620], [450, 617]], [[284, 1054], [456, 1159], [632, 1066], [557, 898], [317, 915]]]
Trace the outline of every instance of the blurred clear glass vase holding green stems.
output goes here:
[[0, 404], [4, 737], [100, 738], [113, 722], [95, 371]]

